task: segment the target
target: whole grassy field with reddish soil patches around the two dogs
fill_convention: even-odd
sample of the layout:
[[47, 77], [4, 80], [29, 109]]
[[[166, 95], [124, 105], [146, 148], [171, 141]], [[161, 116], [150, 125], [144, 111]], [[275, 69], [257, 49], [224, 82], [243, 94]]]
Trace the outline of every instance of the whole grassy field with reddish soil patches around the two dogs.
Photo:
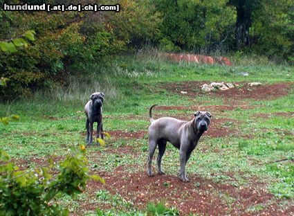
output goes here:
[[[52, 154], [62, 159], [84, 143], [84, 104], [92, 92], [103, 91], [104, 131], [111, 138], [106, 147], [89, 147], [88, 158], [92, 172], [107, 183], [90, 182], [81, 195], [60, 197], [72, 215], [95, 215], [97, 208], [104, 211], [100, 215], [140, 215], [149, 202], [181, 215], [293, 214], [293, 67], [250, 60], [208, 66], [150, 56], [123, 57], [89, 69], [87, 77], [71, 78], [67, 89], [1, 104], [0, 116], [21, 118], [0, 125], [0, 148], [24, 168], [46, 165]], [[239, 89], [201, 92], [201, 84], [222, 81]], [[178, 150], [172, 145], [163, 156], [167, 174], [147, 177], [147, 113], [153, 104], [161, 106], [155, 118], [189, 120], [197, 109], [212, 113], [212, 125], [187, 163], [189, 183], [178, 180]]]

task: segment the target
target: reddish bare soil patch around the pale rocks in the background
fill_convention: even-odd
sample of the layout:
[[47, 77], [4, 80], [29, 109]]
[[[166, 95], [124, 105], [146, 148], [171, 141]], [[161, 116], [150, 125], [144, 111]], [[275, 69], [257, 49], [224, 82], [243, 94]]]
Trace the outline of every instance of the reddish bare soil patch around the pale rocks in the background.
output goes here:
[[181, 94], [181, 91], [186, 91], [184, 95], [195, 97], [201, 95], [210, 95], [230, 100], [270, 100], [285, 96], [293, 86], [293, 82], [280, 82], [275, 84], [264, 84], [261, 86], [250, 87], [245, 82], [237, 82], [239, 88], [228, 89], [226, 91], [210, 91], [204, 93], [201, 91], [201, 85], [208, 82], [205, 81], [185, 81], [185, 82], [169, 82], [161, 83], [160, 88], [167, 89], [173, 93]]

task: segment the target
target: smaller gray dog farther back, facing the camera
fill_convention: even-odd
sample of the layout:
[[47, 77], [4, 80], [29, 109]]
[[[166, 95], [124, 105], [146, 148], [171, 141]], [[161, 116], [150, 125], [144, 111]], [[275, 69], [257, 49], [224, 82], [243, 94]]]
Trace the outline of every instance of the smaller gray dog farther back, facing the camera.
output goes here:
[[103, 125], [102, 125], [102, 103], [104, 93], [92, 93], [90, 99], [84, 106], [86, 114], [86, 143], [91, 145], [93, 143], [93, 123], [97, 123], [96, 137], [103, 139]]

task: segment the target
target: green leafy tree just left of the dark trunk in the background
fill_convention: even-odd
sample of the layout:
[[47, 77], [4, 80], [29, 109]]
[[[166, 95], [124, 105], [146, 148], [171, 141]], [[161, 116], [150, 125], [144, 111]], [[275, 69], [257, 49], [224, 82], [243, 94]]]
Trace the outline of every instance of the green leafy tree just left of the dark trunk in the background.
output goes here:
[[160, 25], [162, 44], [174, 44], [174, 50], [208, 52], [230, 46], [228, 41], [235, 23], [235, 11], [226, 6], [228, 0], [152, 2], [163, 20]]

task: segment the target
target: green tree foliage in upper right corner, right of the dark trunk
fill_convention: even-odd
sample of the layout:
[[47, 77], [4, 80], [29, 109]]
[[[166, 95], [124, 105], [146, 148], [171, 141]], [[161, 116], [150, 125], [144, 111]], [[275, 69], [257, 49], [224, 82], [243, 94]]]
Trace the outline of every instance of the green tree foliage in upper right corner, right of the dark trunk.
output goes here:
[[251, 51], [293, 63], [294, 1], [261, 0], [252, 13]]

